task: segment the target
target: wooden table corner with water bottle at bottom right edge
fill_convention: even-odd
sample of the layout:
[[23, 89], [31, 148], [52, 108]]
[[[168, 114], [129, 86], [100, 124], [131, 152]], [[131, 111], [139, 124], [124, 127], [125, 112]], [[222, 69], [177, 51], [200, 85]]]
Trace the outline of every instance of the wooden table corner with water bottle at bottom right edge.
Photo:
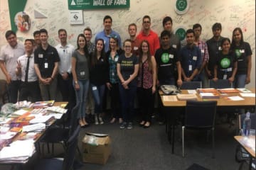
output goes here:
[[[245, 140], [246, 140], [247, 137], [245, 137], [245, 136], [235, 136], [234, 138], [235, 138], [236, 141], [239, 142], [239, 144], [240, 144], [240, 145], [248, 152], [248, 154], [250, 155], [249, 169], [252, 169], [252, 158], [255, 158], [255, 151], [254, 151], [252, 148], [250, 148], [250, 147], [248, 147], [248, 146], [246, 145]], [[254, 142], [255, 142], [255, 136], [250, 136], [249, 138], [250, 138], [250, 140], [254, 140]]]

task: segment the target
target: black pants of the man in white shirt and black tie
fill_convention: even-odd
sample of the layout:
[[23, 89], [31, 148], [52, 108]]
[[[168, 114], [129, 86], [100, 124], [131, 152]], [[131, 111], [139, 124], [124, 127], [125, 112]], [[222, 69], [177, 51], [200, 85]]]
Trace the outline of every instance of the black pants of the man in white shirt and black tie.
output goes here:
[[38, 81], [23, 82], [21, 81], [21, 89], [18, 101], [41, 101], [41, 91]]

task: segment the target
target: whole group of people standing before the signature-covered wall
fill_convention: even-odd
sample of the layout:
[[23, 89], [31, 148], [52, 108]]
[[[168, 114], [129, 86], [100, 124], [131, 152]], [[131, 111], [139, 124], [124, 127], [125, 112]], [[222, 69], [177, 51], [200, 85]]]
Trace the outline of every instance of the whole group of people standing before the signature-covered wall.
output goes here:
[[[130, 37], [122, 43], [112, 30], [111, 16], [103, 18], [104, 30], [91, 42], [92, 30], [85, 28], [78, 35], [77, 47], [67, 42], [65, 29], [58, 30], [60, 44], [48, 44], [46, 29], [34, 32], [34, 39], [24, 45], [17, 42], [16, 33], [6, 32], [7, 45], [1, 47], [0, 67], [6, 76], [10, 101], [55, 100], [57, 89], [69, 110], [79, 106], [81, 126], [88, 123], [86, 113], [94, 115], [95, 124], [103, 124], [102, 109], [110, 91], [112, 120], [119, 128], [133, 128], [134, 98], [137, 94], [141, 121], [149, 128], [154, 111], [157, 86], [182, 86], [183, 81], [228, 79], [235, 87], [250, 83], [252, 51], [244, 42], [242, 30], [233, 30], [232, 41], [223, 38], [220, 23], [212, 27], [213, 38], [201, 40], [202, 27], [196, 23], [186, 30], [182, 46], [174, 34], [171, 17], [163, 19], [164, 30], [158, 36], [151, 30], [151, 18], [142, 18], [142, 30], [128, 26]], [[207, 87], [207, 85], [204, 85]], [[18, 94], [19, 91], [19, 94]]]

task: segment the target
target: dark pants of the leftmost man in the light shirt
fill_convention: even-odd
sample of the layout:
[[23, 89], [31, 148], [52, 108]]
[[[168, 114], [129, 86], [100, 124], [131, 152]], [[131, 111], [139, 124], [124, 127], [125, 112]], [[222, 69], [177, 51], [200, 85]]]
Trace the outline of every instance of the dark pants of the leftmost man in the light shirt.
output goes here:
[[10, 84], [8, 84], [8, 94], [9, 94], [9, 101], [11, 103], [16, 103], [18, 100], [18, 91], [21, 86], [20, 80], [11, 81]]

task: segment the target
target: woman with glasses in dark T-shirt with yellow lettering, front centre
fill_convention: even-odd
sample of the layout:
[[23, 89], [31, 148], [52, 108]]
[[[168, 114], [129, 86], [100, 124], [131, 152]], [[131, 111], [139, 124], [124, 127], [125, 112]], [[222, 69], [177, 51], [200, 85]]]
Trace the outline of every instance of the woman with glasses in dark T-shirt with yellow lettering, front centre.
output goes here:
[[[119, 92], [122, 105], [123, 123], [121, 129], [132, 129], [134, 115], [134, 98], [137, 91], [137, 74], [139, 71], [138, 57], [132, 54], [132, 41], [124, 41], [124, 54], [117, 62]], [[127, 124], [128, 123], [128, 124]]]

